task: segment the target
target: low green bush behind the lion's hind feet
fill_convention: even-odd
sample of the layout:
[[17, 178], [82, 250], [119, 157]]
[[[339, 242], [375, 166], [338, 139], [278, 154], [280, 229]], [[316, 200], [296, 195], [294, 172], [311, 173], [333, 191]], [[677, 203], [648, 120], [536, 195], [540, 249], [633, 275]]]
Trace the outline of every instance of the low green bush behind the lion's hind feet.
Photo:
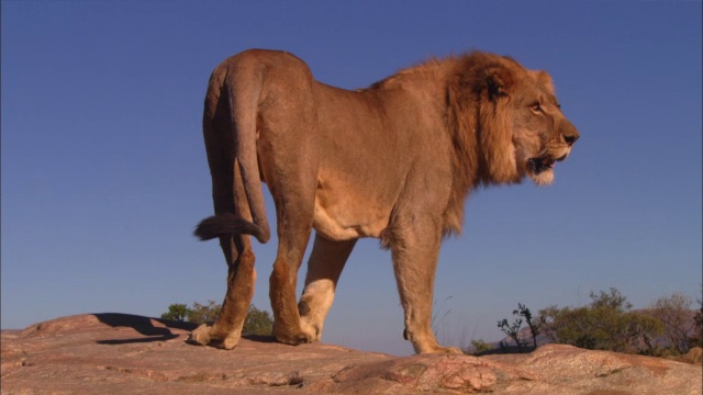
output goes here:
[[[193, 302], [192, 308], [185, 304], [175, 303], [168, 306], [168, 312], [161, 314], [163, 319], [180, 320], [196, 324], [212, 324], [220, 314], [221, 305], [214, 301], [208, 301], [208, 304]], [[243, 336], [271, 335], [274, 328], [274, 319], [266, 311], [260, 311], [254, 305], [249, 306], [249, 312], [244, 320], [242, 328]]]

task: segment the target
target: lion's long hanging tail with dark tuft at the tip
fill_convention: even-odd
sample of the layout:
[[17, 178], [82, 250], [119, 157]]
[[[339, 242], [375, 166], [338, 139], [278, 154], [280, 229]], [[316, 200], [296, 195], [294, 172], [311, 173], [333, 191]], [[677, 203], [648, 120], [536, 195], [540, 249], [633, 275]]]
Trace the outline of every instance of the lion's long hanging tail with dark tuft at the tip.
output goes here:
[[[267, 242], [271, 232], [266, 218], [264, 192], [256, 154], [256, 119], [257, 108], [263, 90], [263, 72], [255, 76], [243, 72], [232, 72], [236, 65], [230, 64], [213, 72], [208, 87], [207, 103], [217, 103], [219, 94], [227, 95], [230, 113], [235, 140], [235, 161], [242, 174], [242, 182], [249, 203], [253, 222], [236, 216], [234, 213], [217, 213], [203, 219], [193, 234], [201, 240], [209, 240], [220, 236], [247, 234], [256, 237], [259, 242]], [[217, 94], [219, 93], [219, 94]], [[205, 104], [205, 119], [212, 122], [209, 113], [213, 111]], [[213, 127], [212, 123], [203, 127]], [[235, 168], [232, 168], [235, 171]], [[236, 182], [236, 177], [233, 180]]]

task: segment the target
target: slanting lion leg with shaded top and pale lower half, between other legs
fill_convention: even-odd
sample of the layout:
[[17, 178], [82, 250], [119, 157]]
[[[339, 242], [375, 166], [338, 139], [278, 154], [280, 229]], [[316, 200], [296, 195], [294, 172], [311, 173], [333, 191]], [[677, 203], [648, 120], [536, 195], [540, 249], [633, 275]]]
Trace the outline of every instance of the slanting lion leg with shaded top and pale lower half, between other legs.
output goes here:
[[315, 234], [315, 244], [308, 261], [305, 289], [298, 303], [302, 330], [312, 341], [320, 341], [322, 337], [339, 274], [355, 245], [356, 239], [332, 241]]

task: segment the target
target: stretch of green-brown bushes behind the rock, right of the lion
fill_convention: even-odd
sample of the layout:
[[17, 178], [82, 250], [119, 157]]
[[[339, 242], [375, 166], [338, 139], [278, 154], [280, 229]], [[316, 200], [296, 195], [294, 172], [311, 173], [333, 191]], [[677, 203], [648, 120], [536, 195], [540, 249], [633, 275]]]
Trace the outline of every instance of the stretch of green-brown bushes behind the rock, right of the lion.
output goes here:
[[[539, 311], [537, 317], [518, 303], [513, 311], [517, 318], [512, 323], [498, 321], [498, 327], [512, 340], [500, 342], [502, 352], [510, 352], [513, 342], [518, 352], [524, 352], [529, 336], [536, 349], [540, 334], [548, 342], [654, 357], [682, 356], [693, 347], [703, 347], [703, 298], [696, 298], [698, 306], [693, 309], [691, 297], [673, 293], [659, 297], [646, 309], [633, 311], [632, 303], [615, 287], [591, 292], [589, 297], [587, 306], [554, 305]], [[524, 321], [529, 335], [522, 328]], [[490, 345], [482, 340], [471, 345], [475, 354], [490, 350]]]

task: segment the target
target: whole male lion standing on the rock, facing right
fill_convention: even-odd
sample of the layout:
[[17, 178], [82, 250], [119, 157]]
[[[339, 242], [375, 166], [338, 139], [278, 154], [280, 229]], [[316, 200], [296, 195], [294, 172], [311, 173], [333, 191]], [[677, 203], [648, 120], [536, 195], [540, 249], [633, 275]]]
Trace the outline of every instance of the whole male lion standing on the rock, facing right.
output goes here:
[[278, 223], [269, 289], [278, 341], [320, 340], [356, 240], [376, 237], [392, 252], [404, 336], [417, 353], [459, 352], [432, 332], [432, 295], [439, 245], [460, 232], [469, 191], [524, 177], [549, 184], [579, 138], [546, 72], [479, 52], [347, 91], [315, 81], [291, 54], [247, 50], [213, 71], [203, 134], [215, 215], [196, 235], [220, 238], [228, 276], [220, 317], [191, 341], [239, 341], [256, 276], [248, 235], [270, 237], [264, 181]]

